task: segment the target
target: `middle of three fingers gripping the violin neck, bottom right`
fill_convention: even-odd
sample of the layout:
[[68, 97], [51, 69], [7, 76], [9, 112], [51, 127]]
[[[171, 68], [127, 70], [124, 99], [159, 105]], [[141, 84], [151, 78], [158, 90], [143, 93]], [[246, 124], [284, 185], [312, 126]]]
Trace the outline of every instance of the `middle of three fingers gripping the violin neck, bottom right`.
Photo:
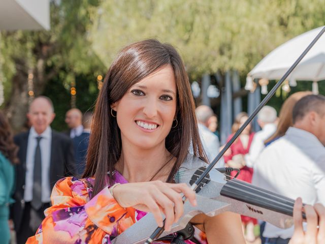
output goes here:
[[317, 236], [317, 222], [318, 217], [316, 214], [315, 209], [310, 205], [305, 205], [305, 212], [307, 218], [307, 231], [305, 233], [305, 240], [306, 243], [317, 243], [316, 236]]

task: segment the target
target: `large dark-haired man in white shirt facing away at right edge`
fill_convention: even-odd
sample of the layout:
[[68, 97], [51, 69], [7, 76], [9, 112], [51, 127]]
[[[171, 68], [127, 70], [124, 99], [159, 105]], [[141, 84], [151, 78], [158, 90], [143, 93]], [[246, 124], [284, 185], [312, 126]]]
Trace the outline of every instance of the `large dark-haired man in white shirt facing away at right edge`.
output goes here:
[[[293, 109], [294, 126], [267, 146], [254, 165], [252, 184], [306, 204], [325, 204], [325, 97], [309, 95]], [[266, 224], [265, 243], [288, 243], [293, 228]]]

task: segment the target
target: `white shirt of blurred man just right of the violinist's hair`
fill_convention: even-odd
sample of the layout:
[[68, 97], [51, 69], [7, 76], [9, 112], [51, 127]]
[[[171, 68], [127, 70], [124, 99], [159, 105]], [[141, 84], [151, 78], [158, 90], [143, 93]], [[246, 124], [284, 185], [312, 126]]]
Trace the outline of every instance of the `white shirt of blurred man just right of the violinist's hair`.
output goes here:
[[[204, 125], [199, 123], [198, 127], [203, 149], [208, 157], [209, 162], [211, 163], [219, 153], [219, 138]], [[216, 164], [216, 167], [224, 167], [223, 159], [220, 159], [220, 161]]]

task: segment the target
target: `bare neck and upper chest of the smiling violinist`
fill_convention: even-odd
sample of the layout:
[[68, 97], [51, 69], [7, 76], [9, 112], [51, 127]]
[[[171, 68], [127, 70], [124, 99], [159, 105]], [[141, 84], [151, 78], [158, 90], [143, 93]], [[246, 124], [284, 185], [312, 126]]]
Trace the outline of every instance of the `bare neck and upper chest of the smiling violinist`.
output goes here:
[[152, 149], [136, 148], [122, 143], [122, 148], [121, 158], [115, 168], [128, 182], [167, 180], [175, 159], [166, 149], [165, 143]]

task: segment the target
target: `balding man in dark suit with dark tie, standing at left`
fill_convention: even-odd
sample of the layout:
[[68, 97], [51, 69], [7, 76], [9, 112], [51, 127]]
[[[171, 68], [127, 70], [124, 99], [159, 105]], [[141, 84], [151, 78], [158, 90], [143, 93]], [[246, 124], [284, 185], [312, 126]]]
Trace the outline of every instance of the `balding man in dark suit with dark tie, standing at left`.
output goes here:
[[35, 234], [50, 206], [55, 182], [75, 173], [72, 140], [51, 129], [55, 114], [52, 101], [38, 97], [29, 106], [31, 128], [15, 136], [20, 164], [16, 167], [15, 203], [11, 208], [17, 242]]

